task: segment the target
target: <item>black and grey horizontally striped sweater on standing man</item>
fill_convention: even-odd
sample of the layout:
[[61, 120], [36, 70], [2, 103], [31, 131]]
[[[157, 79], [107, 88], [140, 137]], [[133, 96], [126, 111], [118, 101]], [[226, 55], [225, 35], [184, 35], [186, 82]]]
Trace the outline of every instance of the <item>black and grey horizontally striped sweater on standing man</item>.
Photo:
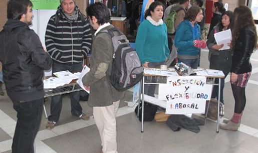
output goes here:
[[90, 23], [86, 17], [85, 22], [82, 22], [79, 10], [78, 13], [77, 21], [70, 21], [59, 9], [56, 13], [59, 22], [55, 23], [56, 14], [48, 22], [45, 43], [48, 53], [56, 63], [68, 65], [81, 63], [83, 57], [86, 58], [91, 50]]

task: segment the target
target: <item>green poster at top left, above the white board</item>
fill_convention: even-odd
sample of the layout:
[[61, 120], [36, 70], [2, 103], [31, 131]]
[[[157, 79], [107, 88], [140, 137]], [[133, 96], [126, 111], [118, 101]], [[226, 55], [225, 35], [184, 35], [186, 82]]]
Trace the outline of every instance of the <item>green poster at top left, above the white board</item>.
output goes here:
[[31, 0], [34, 10], [57, 10], [59, 0]]

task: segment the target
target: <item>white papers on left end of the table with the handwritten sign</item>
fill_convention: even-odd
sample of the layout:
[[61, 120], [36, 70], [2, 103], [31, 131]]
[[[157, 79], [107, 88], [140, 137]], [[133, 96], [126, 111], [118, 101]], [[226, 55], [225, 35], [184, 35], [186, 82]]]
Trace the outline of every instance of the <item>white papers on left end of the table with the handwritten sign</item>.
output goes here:
[[161, 69], [147, 69], [144, 68], [143, 71], [145, 74], [150, 74], [150, 75], [160, 75], [160, 76], [178, 76], [176, 71], [173, 70], [161, 70]]

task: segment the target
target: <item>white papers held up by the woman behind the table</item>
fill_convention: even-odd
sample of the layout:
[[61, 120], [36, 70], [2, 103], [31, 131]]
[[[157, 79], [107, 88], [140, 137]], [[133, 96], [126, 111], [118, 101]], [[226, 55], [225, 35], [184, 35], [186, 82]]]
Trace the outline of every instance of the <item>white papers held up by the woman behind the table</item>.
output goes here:
[[217, 45], [223, 44], [223, 47], [219, 50], [230, 49], [227, 45], [232, 40], [231, 30], [225, 30], [214, 34], [214, 38], [216, 40]]

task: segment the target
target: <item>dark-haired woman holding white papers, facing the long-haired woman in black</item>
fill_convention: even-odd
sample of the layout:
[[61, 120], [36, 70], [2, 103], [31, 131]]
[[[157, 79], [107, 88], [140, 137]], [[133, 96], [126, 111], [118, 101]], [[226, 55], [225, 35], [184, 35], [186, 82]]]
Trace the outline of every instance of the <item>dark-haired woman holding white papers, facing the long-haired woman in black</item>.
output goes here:
[[[207, 47], [209, 49], [209, 68], [214, 70], [223, 71], [225, 77], [230, 71], [232, 63], [232, 52], [229, 49], [220, 50], [223, 44], [217, 45], [214, 34], [231, 29], [231, 20], [233, 18], [233, 12], [226, 11], [221, 15], [218, 25], [216, 25], [210, 32], [209, 38], [207, 40]], [[215, 79], [215, 83], [219, 82]], [[225, 85], [225, 79], [220, 81], [220, 116], [224, 115], [224, 99], [223, 99], [223, 89]], [[218, 99], [218, 86], [214, 86], [211, 94], [211, 98]]]

